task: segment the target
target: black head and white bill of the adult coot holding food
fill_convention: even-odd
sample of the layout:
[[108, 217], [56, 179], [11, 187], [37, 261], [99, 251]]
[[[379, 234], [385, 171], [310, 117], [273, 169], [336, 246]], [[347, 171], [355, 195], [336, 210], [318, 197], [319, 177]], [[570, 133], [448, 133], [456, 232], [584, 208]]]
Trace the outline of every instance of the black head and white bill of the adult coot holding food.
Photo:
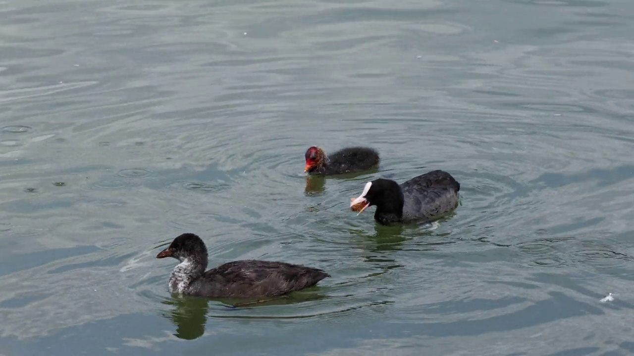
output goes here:
[[365, 184], [361, 195], [350, 202], [350, 208], [362, 213], [367, 207], [375, 205], [377, 219], [379, 215], [394, 215], [394, 219], [401, 219], [403, 202], [403, 192], [398, 183], [391, 179], [379, 178]]

